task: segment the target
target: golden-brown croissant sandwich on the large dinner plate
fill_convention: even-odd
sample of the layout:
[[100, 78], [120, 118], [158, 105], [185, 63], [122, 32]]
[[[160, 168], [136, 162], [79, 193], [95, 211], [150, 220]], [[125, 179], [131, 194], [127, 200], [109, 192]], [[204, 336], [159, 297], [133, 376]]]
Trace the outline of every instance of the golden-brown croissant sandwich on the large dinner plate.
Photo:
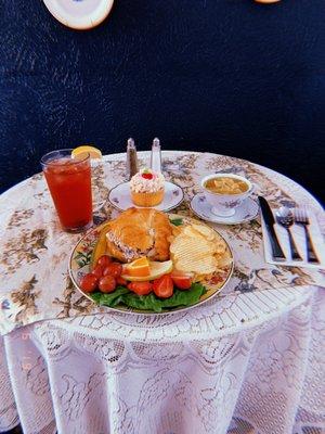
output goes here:
[[172, 228], [168, 217], [153, 208], [129, 208], [108, 224], [107, 254], [122, 263], [141, 256], [169, 259]]

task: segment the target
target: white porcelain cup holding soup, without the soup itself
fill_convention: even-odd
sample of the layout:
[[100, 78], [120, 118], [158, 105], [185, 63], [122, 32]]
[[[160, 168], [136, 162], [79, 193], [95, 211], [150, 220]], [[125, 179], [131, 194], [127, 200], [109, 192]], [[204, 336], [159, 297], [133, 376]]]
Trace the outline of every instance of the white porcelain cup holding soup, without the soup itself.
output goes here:
[[[209, 179], [216, 178], [235, 178], [239, 179], [243, 182], [246, 182], [248, 189], [243, 193], [238, 194], [223, 194], [223, 193], [213, 193], [205, 187], [205, 183]], [[235, 214], [235, 208], [242, 205], [243, 201], [248, 197], [253, 191], [253, 184], [246, 178], [234, 175], [234, 174], [212, 174], [204, 177], [200, 181], [200, 187], [204, 190], [205, 196], [208, 203], [211, 205], [211, 212], [216, 214], [216, 216], [222, 217], [231, 217]]]

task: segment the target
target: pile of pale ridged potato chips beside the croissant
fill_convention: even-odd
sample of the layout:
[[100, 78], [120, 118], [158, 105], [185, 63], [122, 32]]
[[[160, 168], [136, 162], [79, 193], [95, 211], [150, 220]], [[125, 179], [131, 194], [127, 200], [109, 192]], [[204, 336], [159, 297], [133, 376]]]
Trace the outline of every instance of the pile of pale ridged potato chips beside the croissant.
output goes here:
[[208, 279], [231, 263], [224, 240], [208, 226], [190, 224], [178, 228], [170, 244], [174, 269], [194, 273], [195, 281]]

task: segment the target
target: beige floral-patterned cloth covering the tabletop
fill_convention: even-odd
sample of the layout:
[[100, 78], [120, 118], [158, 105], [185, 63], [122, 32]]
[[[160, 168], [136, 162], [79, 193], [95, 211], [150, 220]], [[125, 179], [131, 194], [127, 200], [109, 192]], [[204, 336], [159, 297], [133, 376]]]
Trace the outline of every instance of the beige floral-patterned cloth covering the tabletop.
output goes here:
[[[147, 162], [148, 153], [140, 153], [140, 164], [144, 166]], [[199, 179], [222, 171], [247, 176], [256, 186], [255, 194], [263, 194], [273, 205], [294, 205], [295, 201], [303, 200], [321, 213], [312, 196], [295, 182], [244, 159], [167, 151], [162, 153], [162, 170], [167, 180], [184, 190], [184, 202], [173, 210], [180, 215], [195, 217], [188, 202], [200, 191]], [[101, 203], [94, 214], [94, 222], [99, 225], [119, 214], [105, 197], [110, 188], [126, 180], [125, 156], [105, 157], [102, 166], [93, 169], [92, 176], [98, 203]], [[8, 201], [11, 203], [9, 208], [5, 206]], [[68, 278], [69, 255], [80, 235], [61, 230], [43, 176], [37, 174], [18, 184], [3, 194], [0, 203], [1, 333], [42, 319], [104, 312], [105, 308], [96, 307], [83, 297]], [[229, 241], [235, 255], [233, 278], [221, 296], [297, 285], [325, 285], [324, 275], [318, 271], [265, 264], [259, 220], [212, 226]], [[218, 297], [213, 303], [218, 303]]]

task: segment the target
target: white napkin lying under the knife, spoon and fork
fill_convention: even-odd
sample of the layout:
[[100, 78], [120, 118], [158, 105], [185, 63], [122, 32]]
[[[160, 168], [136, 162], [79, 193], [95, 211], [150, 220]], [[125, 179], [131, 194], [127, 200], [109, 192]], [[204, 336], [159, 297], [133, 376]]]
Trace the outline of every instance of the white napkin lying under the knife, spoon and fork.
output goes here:
[[[274, 219], [276, 220], [275, 210], [272, 209], [272, 212], [274, 215]], [[280, 245], [282, 246], [282, 250], [283, 250], [287, 260], [285, 260], [285, 261], [274, 260], [272, 257], [272, 248], [271, 248], [269, 232], [266, 231], [263, 218], [261, 218], [261, 220], [262, 220], [262, 231], [263, 231], [264, 255], [265, 255], [266, 263], [292, 266], [292, 267], [325, 269], [325, 244], [324, 244], [324, 237], [322, 234], [320, 222], [322, 226], [323, 226], [323, 224], [322, 224], [322, 221], [318, 222], [314, 213], [309, 212], [310, 226], [308, 229], [310, 232], [312, 244], [314, 246], [314, 251], [320, 260], [320, 264], [311, 264], [311, 263], [307, 261], [307, 245], [306, 245], [304, 229], [300, 225], [292, 225], [290, 227], [290, 231], [291, 231], [294, 241], [296, 243], [297, 250], [300, 253], [300, 256], [303, 258], [303, 260], [292, 260], [291, 259], [287, 230], [284, 227], [280, 226], [278, 224], [274, 225], [274, 230], [277, 235]]]

